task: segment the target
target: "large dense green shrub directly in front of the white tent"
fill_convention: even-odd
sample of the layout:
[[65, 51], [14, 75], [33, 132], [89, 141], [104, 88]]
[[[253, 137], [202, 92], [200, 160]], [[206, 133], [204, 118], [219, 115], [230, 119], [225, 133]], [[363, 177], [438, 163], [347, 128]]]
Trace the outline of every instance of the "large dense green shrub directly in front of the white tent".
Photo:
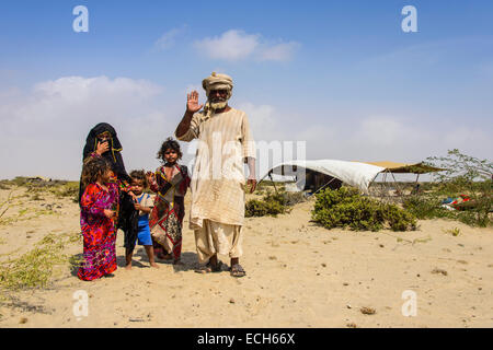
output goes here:
[[324, 228], [349, 228], [354, 231], [393, 231], [416, 229], [416, 219], [394, 205], [381, 203], [359, 195], [352, 187], [326, 188], [316, 195], [312, 219]]

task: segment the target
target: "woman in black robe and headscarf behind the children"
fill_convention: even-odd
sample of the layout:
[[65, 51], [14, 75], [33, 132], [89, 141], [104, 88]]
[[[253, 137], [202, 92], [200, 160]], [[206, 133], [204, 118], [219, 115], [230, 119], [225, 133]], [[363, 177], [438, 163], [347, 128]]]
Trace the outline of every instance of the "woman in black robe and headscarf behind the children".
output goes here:
[[[82, 161], [94, 156], [102, 156], [108, 162], [113, 171], [112, 182], [119, 188], [119, 200], [115, 203], [117, 211], [116, 229], [125, 232], [125, 247], [133, 249], [137, 240], [138, 211], [135, 210], [133, 192], [130, 191], [131, 178], [125, 170], [122, 158], [122, 143], [119, 143], [115, 128], [107, 122], [100, 122], [89, 131], [85, 147], [82, 152]], [[84, 191], [82, 182], [79, 188], [79, 202]]]

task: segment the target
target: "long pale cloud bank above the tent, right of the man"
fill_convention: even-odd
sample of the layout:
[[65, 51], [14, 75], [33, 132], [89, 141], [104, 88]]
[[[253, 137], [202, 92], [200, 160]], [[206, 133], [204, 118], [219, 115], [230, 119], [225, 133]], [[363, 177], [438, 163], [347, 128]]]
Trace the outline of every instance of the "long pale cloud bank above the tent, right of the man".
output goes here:
[[431, 155], [445, 155], [458, 148], [461, 152], [484, 159], [493, 149], [486, 130], [463, 125], [432, 126], [416, 116], [363, 116], [345, 119], [326, 118], [313, 124], [307, 110], [305, 121], [295, 113], [282, 114], [275, 106], [240, 103], [250, 117], [256, 141], [306, 141], [307, 159], [346, 161], [419, 162]]

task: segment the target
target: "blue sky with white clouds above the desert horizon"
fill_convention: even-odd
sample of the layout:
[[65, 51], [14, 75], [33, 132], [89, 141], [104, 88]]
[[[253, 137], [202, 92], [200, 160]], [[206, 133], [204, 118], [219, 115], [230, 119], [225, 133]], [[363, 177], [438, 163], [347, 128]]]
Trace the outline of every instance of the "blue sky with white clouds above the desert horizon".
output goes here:
[[[79, 4], [89, 33], [72, 30]], [[401, 30], [408, 4], [417, 33]], [[255, 139], [306, 141], [308, 159], [490, 158], [492, 15], [491, 1], [2, 1], [0, 177], [77, 178], [99, 121], [128, 168], [156, 167], [211, 71], [234, 79]]]

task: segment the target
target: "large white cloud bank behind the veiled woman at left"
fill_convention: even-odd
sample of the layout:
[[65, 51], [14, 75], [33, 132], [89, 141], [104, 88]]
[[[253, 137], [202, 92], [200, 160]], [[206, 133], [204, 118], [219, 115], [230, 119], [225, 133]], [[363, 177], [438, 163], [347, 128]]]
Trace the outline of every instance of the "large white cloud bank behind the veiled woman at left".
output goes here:
[[154, 167], [160, 142], [181, 118], [177, 106], [153, 106], [161, 91], [145, 80], [65, 77], [26, 93], [0, 94], [0, 177], [77, 179], [85, 137], [101, 121], [118, 132], [128, 171]]

